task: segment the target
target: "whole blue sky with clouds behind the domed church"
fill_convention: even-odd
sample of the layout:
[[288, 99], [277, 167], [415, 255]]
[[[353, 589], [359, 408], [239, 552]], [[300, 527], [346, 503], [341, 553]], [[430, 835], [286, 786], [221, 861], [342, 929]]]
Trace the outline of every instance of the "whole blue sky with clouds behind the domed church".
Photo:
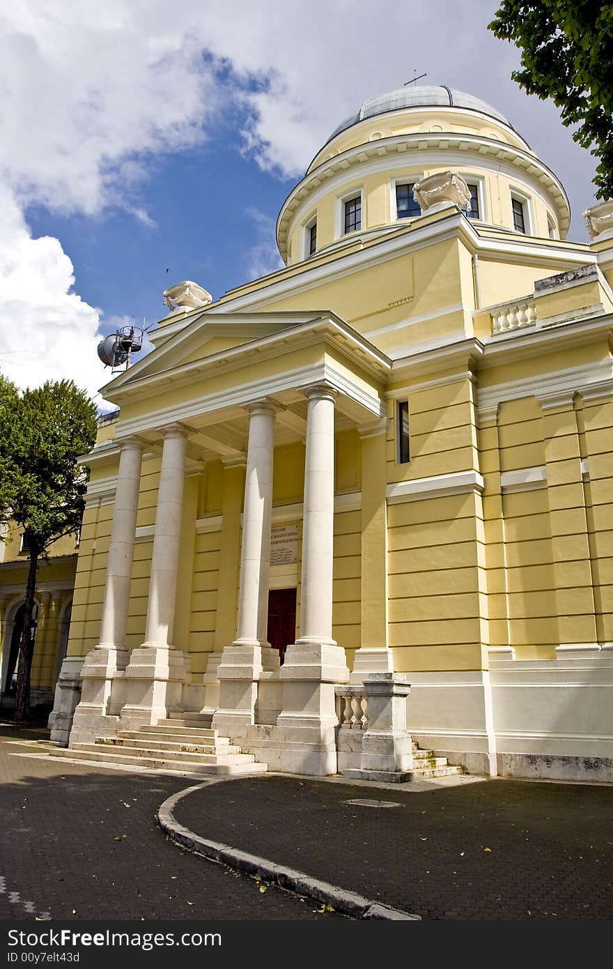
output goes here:
[[[330, 131], [427, 72], [502, 110], [586, 240], [595, 160], [511, 81], [471, 0], [14, 0], [0, 14], [0, 368], [92, 395], [102, 334], [279, 265], [281, 203]], [[167, 272], [167, 269], [169, 270]], [[97, 398], [100, 401], [100, 397]]]

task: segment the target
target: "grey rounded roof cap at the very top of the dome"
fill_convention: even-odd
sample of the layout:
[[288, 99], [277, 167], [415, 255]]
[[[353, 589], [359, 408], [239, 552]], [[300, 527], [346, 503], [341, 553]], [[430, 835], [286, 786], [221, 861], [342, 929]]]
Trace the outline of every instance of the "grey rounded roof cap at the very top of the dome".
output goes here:
[[361, 108], [353, 111], [349, 117], [341, 121], [340, 125], [334, 129], [328, 138], [328, 141], [331, 141], [336, 135], [340, 135], [347, 128], [351, 128], [352, 125], [363, 121], [364, 118], [372, 118], [377, 114], [385, 114], [387, 111], [429, 106], [480, 111], [481, 114], [489, 114], [498, 121], [502, 121], [509, 128], [513, 127], [510, 121], [506, 120], [504, 114], [492, 108], [486, 101], [481, 101], [480, 98], [475, 98], [472, 94], [466, 94], [465, 91], [457, 91], [454, 87], [447, 87], [446, 84], [424, 84], [420, 87], [414, 87], [413, 84], [406, 84], [404, 87], [397, 87], [395, 91], [387, 91], [386, 94], [382, 94], [378, 98], [369, 98]]

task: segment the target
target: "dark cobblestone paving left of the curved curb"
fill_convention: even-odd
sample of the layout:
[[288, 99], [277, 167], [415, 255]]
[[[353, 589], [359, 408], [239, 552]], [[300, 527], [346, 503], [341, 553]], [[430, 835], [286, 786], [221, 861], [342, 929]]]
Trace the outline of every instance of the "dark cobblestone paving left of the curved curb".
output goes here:
[[169, 842], [156, 811], [194, 781], [15, 756], [45, 736], [0, 726], [0, 919], [336, 918]]

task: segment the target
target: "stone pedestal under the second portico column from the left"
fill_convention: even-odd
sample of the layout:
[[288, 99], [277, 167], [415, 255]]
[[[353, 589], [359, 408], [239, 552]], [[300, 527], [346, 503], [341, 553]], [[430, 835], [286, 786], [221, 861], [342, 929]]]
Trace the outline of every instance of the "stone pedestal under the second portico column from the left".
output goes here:
[[153, 726], [169, 710], [179, 709], [183, 686], [189, 679], [189, 661], [171, 646], [143, 643], [133, 649], [126, 667], [125, 703], [120, 724], [125, 730]]

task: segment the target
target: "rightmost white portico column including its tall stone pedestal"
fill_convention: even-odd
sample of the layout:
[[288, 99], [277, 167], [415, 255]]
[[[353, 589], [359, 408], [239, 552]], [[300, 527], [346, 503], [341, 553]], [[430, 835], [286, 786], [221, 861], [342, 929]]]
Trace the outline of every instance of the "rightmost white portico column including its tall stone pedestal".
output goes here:
[[347, 683], [345, 650], [332, 639], [335, 392], [315, 386], [308, 400], [302, 525], [300, 636], [281, 667], [283, 710], [277, 727], [285, 743], [281, 769], [336, 772], [334, 686]]

